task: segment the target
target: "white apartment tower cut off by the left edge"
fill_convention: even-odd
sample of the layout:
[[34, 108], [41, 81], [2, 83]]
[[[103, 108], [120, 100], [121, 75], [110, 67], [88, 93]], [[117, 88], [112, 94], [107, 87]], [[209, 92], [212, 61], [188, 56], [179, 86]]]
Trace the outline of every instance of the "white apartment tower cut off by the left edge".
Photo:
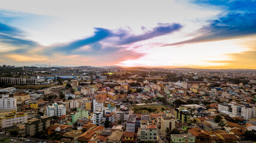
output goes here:
[[2, 95], [2, 98], [0, 98], [0, 110], [17, 111], [16, 98], [9, 97], [9, 95]]

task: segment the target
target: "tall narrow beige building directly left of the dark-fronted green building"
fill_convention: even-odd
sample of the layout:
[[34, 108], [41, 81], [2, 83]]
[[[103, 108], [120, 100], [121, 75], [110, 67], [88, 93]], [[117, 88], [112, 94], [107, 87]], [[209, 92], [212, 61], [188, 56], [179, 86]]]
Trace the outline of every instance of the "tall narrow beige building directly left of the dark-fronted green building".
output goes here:
[[173, 130], [175, 128], [175, 120], [170, 114], [161, 115], [161, 132], [166, 135], [166, 129]]

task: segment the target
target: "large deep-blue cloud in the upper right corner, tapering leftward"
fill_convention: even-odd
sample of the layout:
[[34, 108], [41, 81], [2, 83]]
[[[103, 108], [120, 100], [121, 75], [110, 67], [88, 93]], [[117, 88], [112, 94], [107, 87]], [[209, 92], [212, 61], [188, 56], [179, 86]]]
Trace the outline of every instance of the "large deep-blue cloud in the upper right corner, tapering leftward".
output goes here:
[[[202, 2], [198, 3], [201, 4]], [[219, 41], [256, 34], [256, 12], [255, 10], [248, 11], [251, 10], [251, 8], [246, 9], [246, 7], [251, 7], [250, 5], [254, 5], [256, 7], [254, 1], [204, 1], [203, 4], [222, 5], [229, 7], [228, 9], [233, 11], [228, 11], [227, 14], [216, 20], [209, 20], [209, 25], [204, 26], [197, 31], [197, 33], [200, 33], [200, 36], [196, 36], [195, 38], [186, 41], [169, 43], [162, 46]]]

